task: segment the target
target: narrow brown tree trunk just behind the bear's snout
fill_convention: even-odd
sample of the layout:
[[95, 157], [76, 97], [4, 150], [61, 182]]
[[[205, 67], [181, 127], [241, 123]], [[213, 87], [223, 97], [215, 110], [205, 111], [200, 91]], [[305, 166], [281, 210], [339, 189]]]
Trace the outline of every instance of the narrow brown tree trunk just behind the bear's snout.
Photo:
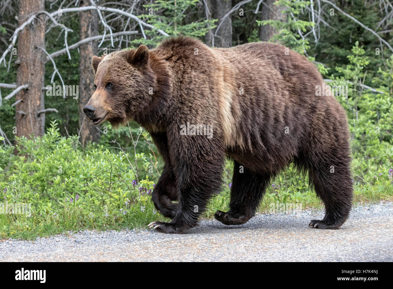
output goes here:
[[[90, 2], [83, 0], [81, 6], [89, 6]], [[98, 14], [95, 10], [79, 12], [79, 36], [80, 39], [98, 35]], [[88, 141], [96, 142], [101, 133], [92, 121], [83, 113], [83, 107], [94, 93], [94, 72], [91, 59], [97, 53], [98, 43], [92, 41], [79, 47], [79, 127], [80, 137], [84, 146]]]

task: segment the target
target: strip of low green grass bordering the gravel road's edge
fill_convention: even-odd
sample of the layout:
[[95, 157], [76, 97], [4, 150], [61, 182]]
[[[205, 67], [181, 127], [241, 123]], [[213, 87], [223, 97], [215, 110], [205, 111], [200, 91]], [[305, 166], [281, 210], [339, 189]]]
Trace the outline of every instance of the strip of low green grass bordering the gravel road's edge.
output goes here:
[[[270, 186], [264, 195], [259, 207], [259, 213], [269, 212], [270, 204], [301, 204], [303, 209], [323, 208], [322, 202], [316, 197], [314, 191], [309, 190], [303, 180], [297, 180], [291, 173], [283, 173], [275, 181], [290, 179], [288, 183], [274, 182], [275, 188]], [[229, 181], [229, 179], [226, 179]], [[277, 188], [280, 186], [279, 188]], [[288, 187], [287, 187], [288, 186]], [[136, 192], [134, 192], [136, 195]], [[126, 198], [129, 199], [129, 198]], [[380, 178], [375, 184], [355, 184], [354, 206], [369, 205], [381, 200], [392, 201], [393, 186], [389, 179]], [[216, 210], [228, 210], [230, 200], [229, 185], [215, 196], [208, 210], [202, 215], [204, 218], [212, 218]], [[44, 209], [37, 199], [32, 204], [31, 216], [16, 214], [0, 214], [0, 238], [34, 239], [63, 233], [66, 231], [77, 232], [85, 229], [95, 230], [120, 230], [124, 228], [146, 228], [152, 221], [169, 221], [156, 212], [150, 195], [142, 195], [140, 199], [119, 210], [108, 211], [107, 207], [94, 205], [85, 197], [79, 197], [75, 202], [59, 202], [46, 206]]]

